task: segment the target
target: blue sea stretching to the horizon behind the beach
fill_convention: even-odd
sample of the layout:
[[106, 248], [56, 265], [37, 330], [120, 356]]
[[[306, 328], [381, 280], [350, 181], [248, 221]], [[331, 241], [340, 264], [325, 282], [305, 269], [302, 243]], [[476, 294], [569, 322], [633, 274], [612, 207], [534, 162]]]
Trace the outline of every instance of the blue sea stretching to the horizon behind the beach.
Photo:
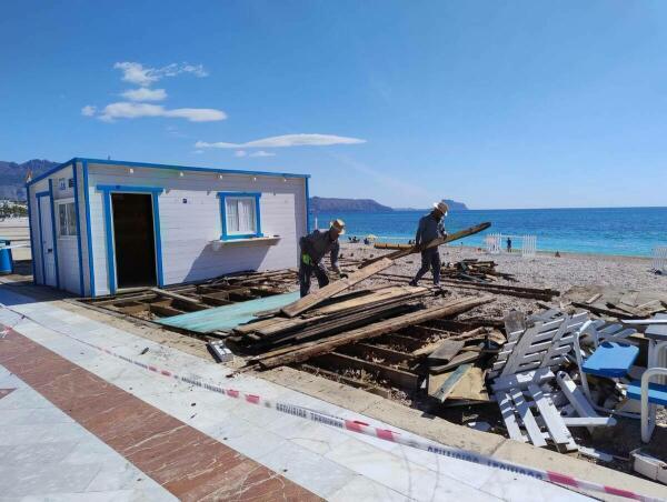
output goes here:
[[[385, 242], [407, 242], [415, 238], [419, 218], [425, 211], [318, 213], [320, 228], [334, 218], [347, 224], [347, 235], [368, 234]], [[610, 209], [512, 209], [450, 211], [448, 232], [490, 221], [487, 231], [464, 239], [464, 245], [484, 247], [488, 233], [537, 235], [538, 251], [623, 254], [650, 257], [656, 245], [667, 245], [667, 208]], [[310, 215], [315, 228], [315, 215]], [[505, 247], [505, 241], [502, 242]], [[520, 239], [514, 240], [515, 248]]]

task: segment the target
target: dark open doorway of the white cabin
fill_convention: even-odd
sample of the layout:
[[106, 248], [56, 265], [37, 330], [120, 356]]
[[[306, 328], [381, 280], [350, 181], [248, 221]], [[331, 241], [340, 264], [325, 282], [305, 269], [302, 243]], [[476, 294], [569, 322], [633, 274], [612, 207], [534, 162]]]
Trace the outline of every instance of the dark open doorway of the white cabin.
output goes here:
[[152, 195], [111, 193], [118, 288], [156, 285]]

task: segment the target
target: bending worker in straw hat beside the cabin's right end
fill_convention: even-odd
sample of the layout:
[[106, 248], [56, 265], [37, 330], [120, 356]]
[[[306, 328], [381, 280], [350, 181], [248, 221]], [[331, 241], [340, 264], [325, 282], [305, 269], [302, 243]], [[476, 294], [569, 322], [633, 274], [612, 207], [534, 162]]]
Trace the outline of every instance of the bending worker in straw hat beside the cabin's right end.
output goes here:
[[301, 260], [299, 261], [299, 287], [301, 297], [306, 297], [310, 291], [310, 277], [315, 273], [317, 283], [323, 288], [329, 283], [329, 277], [322, 258], [329, 253], [331, 259], [331, 270], [340, 273], [338, 268], [338, 254], [340, 252], [340, 243], [338, 238], [345, 233], [345, 222], [342, 220], [334, 220], [329, 230], [313, 230], [311, 234], [303, 235], [299, 240], [301, 248]]

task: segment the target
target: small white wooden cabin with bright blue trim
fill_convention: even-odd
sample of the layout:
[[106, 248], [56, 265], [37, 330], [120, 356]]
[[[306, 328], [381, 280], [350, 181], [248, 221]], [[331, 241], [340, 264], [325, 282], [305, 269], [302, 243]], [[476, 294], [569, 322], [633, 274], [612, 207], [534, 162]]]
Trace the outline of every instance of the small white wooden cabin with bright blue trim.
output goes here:
[[74, 158], [27, 183], [34, 282], [99, 297], [296, 267], [308, 179]]

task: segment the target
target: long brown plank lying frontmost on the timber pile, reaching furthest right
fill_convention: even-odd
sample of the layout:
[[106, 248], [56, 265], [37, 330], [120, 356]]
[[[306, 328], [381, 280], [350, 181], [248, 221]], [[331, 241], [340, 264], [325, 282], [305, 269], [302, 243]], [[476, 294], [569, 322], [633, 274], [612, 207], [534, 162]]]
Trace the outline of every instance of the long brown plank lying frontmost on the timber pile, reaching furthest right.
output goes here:
[[279, 367], [281, 364], [306, 361], [312, 355], [330, 352], [337, 347], [345, 345], [347, 343], [354, 343], [367, 338], [391, 333], [400, 330], [401, 328], [407, 328], [409, 325], [431, 319], [456, 315], [474, 309], [475, 307], [492, 302], [494, 300], [494, 297], [490, 295], [455, 300], [444, 305], [432, 307], [430, 309], [410, 312], [404, 315], [387, 319], [385, 321], [368, 324], [346, 333], [330, 337], [323, 341], [312, 341], [303, 343], [298, 348], [288, 348], [287, 350], [283, 349], [281, 353], [277, 355], [265, 354], [263, 357], [257, 358], [257, 360], [259, 360], [259, 363], [262, 368], [267, 369]]

